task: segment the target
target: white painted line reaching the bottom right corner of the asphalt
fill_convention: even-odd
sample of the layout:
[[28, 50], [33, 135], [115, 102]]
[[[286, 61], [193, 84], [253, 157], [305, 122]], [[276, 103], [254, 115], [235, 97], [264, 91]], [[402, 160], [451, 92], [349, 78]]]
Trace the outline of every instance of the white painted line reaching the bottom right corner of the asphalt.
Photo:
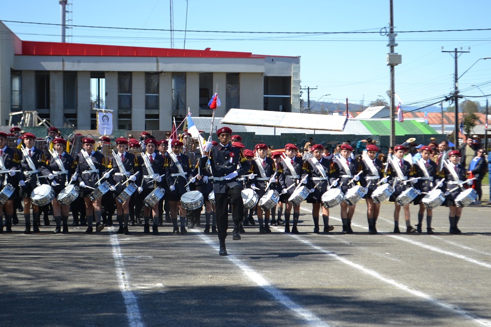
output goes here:
[[[303, 209], [303, 208], [300, 208], [300, 209], [307, 211], [306, 209]], [[329, 218], [331, 218], [331, 217], [329, 216]], [[356, 225], [354, 225], [354, 226], [356, 226]], [[275, 229], [279, 230], [277, 227], [275, 227]], [[420, 292], [420, 291], [413, 290], [409, 286], [406, 286], [404, 284], [401, 284], [401, 283], [399, 283], [398, 281], [396, 281], [394, 279], [385, 277], [382, 274], [377, 273], [374, 270], [365, 268], [364, 266], [362, 266], [360, 264], [357, 264], [357, 263], [355, 263], [353, 261], [347, 260], [347, 259], [345, 259], [345, 258], [343, 258], [341, 256], [338, 256], [335, 253], [329, 252], [329, 251], [325, 250], [324, 248], [322, 248], [320, 246], [314, 245], [314, 244], [310, 243], [309, 241], [306, 241], [306, 240], [300, 238], [297, 235], [290, 234], [289, 236], [295, 238], [297, 241], [300, 241], [300, 242], [302, 242], [302, 243], [304, 243], [306, 245], [309, 245], [309, 246], [315, 248], [318, 251], [324, 252], [329, 257], [332, 257], [334, 259], [337, 259], [337, 260], [339, 260], [339, 261], [341, 261], [341, 262], [343, 262], [343, 263], [345, 263], [345, 264], [347, 264], [347, 265], [349, 265], [351, 267], [356, 268], [357, 270], [359, 270], [359, 271], [361, 271], [363, 273], [366, 273], [366, 274], [368, 274], [368, 275], [370, 275], [370, 276], [372, 276], [372, 277], [374, 277], [376, 279], [379, 279], [379, 280], [381, 280], [381, 281], [383, 281], [385, 283], [388, 283], [390, 285], [393, 285], [393, 286], [397, 287], [400, 290], [406, 291], [406, 292], [408, 292], [408, 293], [410, 293], [410, 294], [412, 294], [412, 295], [414, 295], [416, 297], [419, 297], [419, 298], [422, 298], [424, 300], [427, 300], [430, 303], [435, 304], [436, 306], [439, 306], [439, 307], [441, 307], [443, 309], [453, 311], [453, 312], [457, 313], [458, 315], [463, 316], [464, 318], [467, 318], [469, 320], [475, 321], [476, 323], [482, 324], [484, 326], [491, 326], [491, 321], [486, 320], [486, 319], [483, 319], [483, 318], [480, 318], [480, 317], [478, 317], [478, 316], [476, 316], [476, 315], [474, 315], [472, 313], [469, 313], [469, 312], [465, 311], [464, 309], [462, 309], [462, 308], [460, 308], [460, 307], [458, 307], [456, 305], [453, 305], [453, 304], [450, 304], [450, 303], [446, 303], [444, 301], [436, 300], [436, 299], [432, 298], [428, 294], [425, 294], [425, 293]]]

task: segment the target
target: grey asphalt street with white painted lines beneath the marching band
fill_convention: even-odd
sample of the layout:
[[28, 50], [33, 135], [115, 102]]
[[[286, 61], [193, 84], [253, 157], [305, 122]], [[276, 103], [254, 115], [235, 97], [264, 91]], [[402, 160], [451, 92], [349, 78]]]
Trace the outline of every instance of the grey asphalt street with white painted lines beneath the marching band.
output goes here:
[[389, 203], [369, 235], [364, 200], [342, 235], [339, 210], [328, 234], [312, 233], [305, 202], [300, 235], [259, 234], [256, 220], [229, 235], [227, 257], [203, 223], [186, 236], [165, 223], [158, 236], [24, 235], [20, 215], [0, 234], [0, 326], [491, 326], [491, 206], [464, 208], [461, 235], [445, 207], [434, 235], [393, 234]]

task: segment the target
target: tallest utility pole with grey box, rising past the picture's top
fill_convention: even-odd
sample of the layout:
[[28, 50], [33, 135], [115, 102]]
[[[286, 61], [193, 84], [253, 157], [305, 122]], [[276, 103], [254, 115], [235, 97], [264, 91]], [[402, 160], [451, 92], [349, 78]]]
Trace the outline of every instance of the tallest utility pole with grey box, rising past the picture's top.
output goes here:
[[402, 55], [394, 53], [394, 48], [397, 47], [396, 36], [397, 33], [394, 33], [394, 5], [393, 0], [389, 0], [390, 4], [390, 33], [387, 34], [389, 37], [389, 44], [387, 47], [390, 47], [390, 52], [387, 54], [387, 66], [390, 66], [390, 146], [395, 145], [396, 141], [396, 123], [394, 120], [395, 117], [395, 66], [402, 63]]

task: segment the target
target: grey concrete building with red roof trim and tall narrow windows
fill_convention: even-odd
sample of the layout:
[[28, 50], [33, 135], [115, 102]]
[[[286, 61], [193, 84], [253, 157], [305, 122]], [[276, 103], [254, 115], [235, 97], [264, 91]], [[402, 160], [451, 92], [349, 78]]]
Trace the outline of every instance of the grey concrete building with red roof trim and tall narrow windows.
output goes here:
[[0, 22], [0, 125], [35, 110], [53, 126], [95, 129], [92, 108], [114, 128], [170, 130], [172, 118], [210, 116], [218, 87], [230, 108], [299, 112], [300, 57], [22, 41]]

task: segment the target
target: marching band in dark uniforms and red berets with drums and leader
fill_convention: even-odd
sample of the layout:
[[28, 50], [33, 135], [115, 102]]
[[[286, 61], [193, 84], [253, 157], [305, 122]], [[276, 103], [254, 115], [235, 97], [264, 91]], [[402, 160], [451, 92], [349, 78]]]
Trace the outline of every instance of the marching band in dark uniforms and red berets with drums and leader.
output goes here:
[[[378, 233], [377, 218], [385, 200], [394, 202], [396, 234], [401, 233], [401, 208], [407, 233], [422, 233], [426, 212], [427, 233], [434, 234], [432, 216], [437, 206], [448, 206], [449, 232], [459, 234], [463, 208], [477, 196], [469, 188], [473, 179], [467, 178], [468, 171], [460, 164], [461, 153], [448, 150], [445, 142], [433, 160], [434, 148], [420, 146], [418, 159], [408, 159], [408, 148], [396, 145], [393, 155], [382, 163], [375, 144], [367, 144], [360, 156], [352, 155], [349, 144], [342, 144], [339, 153], [332, 155], [322, 145], [314, 144], [310, 148], [312, 156], [303, 160], [292, 143], [275, 152], [264, 143], [256, 144], [254, 151], [244, 149], [240, 136], [231, 136], [232, 130], [223, 127], [217, 131], [218, 142], [210, 138], [200, 144], [201, 153], [197, 152], [196, 161], [191, 163], [186, 144], [198, 140], [189, 135], [186, 144], [180, 139], [158, 141], [147, 132], [141, 134], [140, 141], [118, 137], [112, 145], [108, 139], [102, 148], [110, 145], [110, 153], [94, 149], [93, 138], [77, 135], [81, 148], [72, 157], [70, 142], [55, 128], [48, 132], [47, 149], [37, 148], [36, 136], [31, 133], [24, 133], [20, 143], [12, 139], [13, 146], [7, 146], [7, 139], [13, 136], [0, 133], [0, 232], [4, 227], [12, 232], [16, 224], [14, 207], [20, 198], [24, 201], [26, 234], [31, 233], [31, 227], [34, 233], [40, 232], [40, 208], [50, 205], [56, 224], [54, 233], [68, 233], [70, 210], [73, 225], [78, 226], [83, 203], [81, 224], [86, 220], [87, 234], [93, 233], [94, 220], [96, 231], [101, 232], [105, 223], [112, 222], [115, 211], [117, 234], [130, 234], [128, 227], [137, 224], [142, 215], [143, 233], [150, 234], [152, 222], [152, 233], [158, 235], [165, 214], [165, 221], [172, 222], [173, 234], [186, 235], [186, 227], [201, 225], [204, 206], [203, 231], [210, 233], [211, 228], [211, 233], [218, 234], [219, 254], [227, 255], [230, 211], [234, 240], [241, 239], [244, 219], [254, 224], [254, 213], [259, 233], [271, 233], [270, 226], [283, 223], [283, 205], [285, 233], [299, 234], [300, 203], [305, 200], [312, 204], [316, 234], [321, 233], [320, 215], [323, 232], [334, 230], [329, 225], [329, 209], [337, 205], [342, 233], [352, 234], [356, 204], [362, 199], [367, 205], [369, 234]], [[410, 223], [411, 202], [419, 207], [416, 228]], [[107, 217], [104, 221], [103, 213]]]

